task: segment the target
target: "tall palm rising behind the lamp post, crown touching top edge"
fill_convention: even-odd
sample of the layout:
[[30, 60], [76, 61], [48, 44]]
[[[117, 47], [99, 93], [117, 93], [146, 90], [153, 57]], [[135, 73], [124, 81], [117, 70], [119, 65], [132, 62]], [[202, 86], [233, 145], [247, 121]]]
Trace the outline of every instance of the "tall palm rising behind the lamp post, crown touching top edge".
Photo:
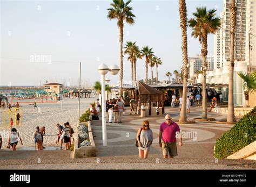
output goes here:
[[126, 23], [132, 25], [134, 24], [134, 19], [136, 16], [131, 12], [132, 7], [128, 6], [131, 3], [131, 0], [128, 0], [124, 3], [123, 0], [113, 0], [111, 3], [111, 8], [107, 9], [109, 12], [107, 13], [107, 18], [117, 19], [117, 25], [119, 27], [119, 42], [120, 42], [120, 89], [119, 95], [123, 95], [123, 37], [124, 37], [124, 21]]

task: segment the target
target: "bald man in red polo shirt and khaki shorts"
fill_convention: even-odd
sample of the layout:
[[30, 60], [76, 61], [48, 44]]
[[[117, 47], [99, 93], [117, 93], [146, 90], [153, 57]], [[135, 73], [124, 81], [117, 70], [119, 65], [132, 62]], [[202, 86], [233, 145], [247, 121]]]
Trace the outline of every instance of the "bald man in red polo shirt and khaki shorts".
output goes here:
[[[163, 149], [164, 158], [177, 156], [176, 133], [179, 134], [179, 146], [182, 146], [182, 138], [179, 125], [172, 121], [169, 114], [165, 116], [165, 122], [159, 128], [159, 146]], [[163, 140], [163, 141], [161, 141]]]

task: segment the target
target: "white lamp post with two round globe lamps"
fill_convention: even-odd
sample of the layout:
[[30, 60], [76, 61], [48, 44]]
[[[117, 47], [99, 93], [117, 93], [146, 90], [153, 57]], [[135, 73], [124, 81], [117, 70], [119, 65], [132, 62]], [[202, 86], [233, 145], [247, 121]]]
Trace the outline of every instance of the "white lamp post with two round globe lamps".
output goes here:
[[105, 99], [105, 75], [110, 71], [112, 75], [116, 75], [119, 72], [119, 67], [117, 65], [112, 65], [107, 67], [106, 64], [102, 63], [98, 67], [98, 72], [102, 76], [102, 141], [103, 146], [107, 146], [107, 137], [106, 137], [106, 99]]

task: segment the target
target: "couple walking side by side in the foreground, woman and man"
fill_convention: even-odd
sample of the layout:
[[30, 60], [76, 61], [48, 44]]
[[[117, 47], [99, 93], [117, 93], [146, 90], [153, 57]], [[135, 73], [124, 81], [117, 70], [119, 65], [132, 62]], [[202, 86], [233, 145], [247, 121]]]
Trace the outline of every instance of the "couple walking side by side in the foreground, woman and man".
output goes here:
[[[165, 121], [161, 123], [159, 127], [159, 147], [162, 148], [163, 157], [168, 156], [172, 158], [177, 156], [177, 140], [176, 134], [179, 136], [179, 146], [183, 146], [180, 128], [177, 123], [172, 121], [170, 114], [165, 116]], [[150, 123], [148, 120], [143, 121], [142, 127], [137, 132], [136, 139], [138, 141], [139, 157], [147, 158], [150, 152], [150, 147], [153, 142], [153, 132], [150, 129]]]

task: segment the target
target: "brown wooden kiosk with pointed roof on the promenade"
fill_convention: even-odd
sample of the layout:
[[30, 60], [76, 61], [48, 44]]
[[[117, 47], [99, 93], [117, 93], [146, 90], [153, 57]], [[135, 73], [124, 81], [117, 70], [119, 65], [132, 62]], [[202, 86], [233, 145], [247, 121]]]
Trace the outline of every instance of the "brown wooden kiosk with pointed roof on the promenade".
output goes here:
[[142, 116], [142, 111], [145, 111], [145, 117], [158, 116], [164, 113], [164, 93], [150, 87], [150, 85], [138, 81], [136, 100], [138, 101], [140, 116]]

